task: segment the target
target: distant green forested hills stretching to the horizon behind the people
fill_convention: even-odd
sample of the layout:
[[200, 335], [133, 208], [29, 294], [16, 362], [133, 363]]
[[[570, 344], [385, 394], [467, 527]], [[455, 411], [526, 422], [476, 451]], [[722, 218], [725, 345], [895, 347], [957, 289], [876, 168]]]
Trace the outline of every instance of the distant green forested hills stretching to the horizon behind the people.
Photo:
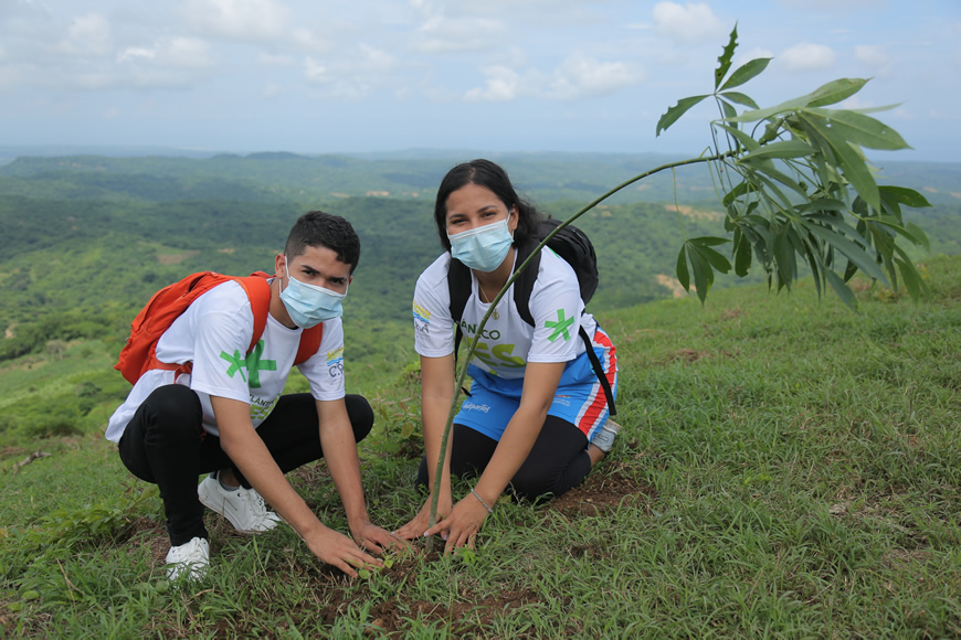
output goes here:
[[[530, 153], [497, 160], [545, 213], [567, 217], [667, 158]], [[0, 360], [74, 337], [115, 341], [118, 349], [133, 313], [159, 287], [203, 269], [272, 270], [294, 220], [311, 209], [344, 215], [361, 237], [360, 267], [345, 303], [353, 356], [411, 355], [410, 298], [416, 276], [440, 254], [433, 194], [454, 162], [292, 153], [20, 158], [0, 167]], [[936, 203], [933, 211], [910, 214], [933, 249], [961, 253], [961, 164], [893, 163], [885, 175]], [[600, 256], [592, 310], [672, 296], [684, 234], [722, 233], [704, 168], [678, 171], [679, 213], [665, 204], [673, 201], [668, 173], [581, 218]]]

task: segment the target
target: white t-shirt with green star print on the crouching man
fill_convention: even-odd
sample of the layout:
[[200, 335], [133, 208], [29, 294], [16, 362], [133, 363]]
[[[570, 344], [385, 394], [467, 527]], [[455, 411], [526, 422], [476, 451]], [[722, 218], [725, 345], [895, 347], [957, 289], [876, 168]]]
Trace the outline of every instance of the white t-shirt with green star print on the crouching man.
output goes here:
[[[181, 375], [162, 370], [146, 372], [110, 417], [107, 439], [118, 442], [154, 390], [175, 382], [197, 392], [203, 406], [203, 427], [210, 434], [218, 435], [210, 405], [212, 395], [250, 404], [251, 422], [258, 427], [281, 397], [303, 330], [288, 329], [267, 314], [260, 342], [246, 354], [253, 331], [251, 301], [240, 285], [224, 282], [202, 294], [157, 342], [158, 360], [192, 362], [193, 371]], [[344, 397], [344, 327], [339, 318], [324, 322], [317, 353], [297, 369], [309, 381], [316, 399]]]

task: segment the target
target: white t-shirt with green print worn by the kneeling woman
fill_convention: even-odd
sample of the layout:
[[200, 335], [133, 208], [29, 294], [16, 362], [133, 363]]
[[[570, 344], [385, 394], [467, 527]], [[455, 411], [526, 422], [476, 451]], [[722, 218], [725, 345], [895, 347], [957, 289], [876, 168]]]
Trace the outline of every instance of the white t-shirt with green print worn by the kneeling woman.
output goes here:
[[[427, 358], [442, 358], [454, 351], [454, 319], [447, 289], [450, 264], [450, 253], [439, 257], [418, 278], [414, 290], [414, 350]], [[489, 307], [480, 301], [477, 279], [472, 274], [471, 297], [461, 319], [465, 343], [474, 338]], [[488, 318], [472, 364], [492, 375], [518, 380], [524, 377], [528, 362], [569, 362], [584, 352], [578, 329], [583, 326], [588, 335], [592, 335], [596, 323], [590, 313], [582, 314], [584, 303], [573, 268], [550, 249], [541, 252], [528, 307], [535, 327], [517, 311], [511, 286], [497, 303], [497, 313]]]

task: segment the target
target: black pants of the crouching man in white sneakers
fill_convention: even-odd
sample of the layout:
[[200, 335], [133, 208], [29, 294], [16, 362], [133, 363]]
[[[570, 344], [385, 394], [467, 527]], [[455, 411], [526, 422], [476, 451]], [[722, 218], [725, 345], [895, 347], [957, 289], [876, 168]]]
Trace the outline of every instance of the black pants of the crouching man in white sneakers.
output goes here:
[[[356, 441], [373, 426], [373, 410], [359, 395], [346, 398]], [[197, 478], [233, 468], [244, 488], [250, 483], [220, 448], [220, 438], [203, 430], [200, 398], [189, 387], [171, 384], [157, 388], [134, 414], [120, 438], [124, 466], [141, 480], [160, 488], [170, 544], [208, 537], [203, 505], [197, 497]], [[317, 405], [310, 394], [281, 396], [270, 417], [257, 428], [274, 461], [284, 473], [324, 457]]]

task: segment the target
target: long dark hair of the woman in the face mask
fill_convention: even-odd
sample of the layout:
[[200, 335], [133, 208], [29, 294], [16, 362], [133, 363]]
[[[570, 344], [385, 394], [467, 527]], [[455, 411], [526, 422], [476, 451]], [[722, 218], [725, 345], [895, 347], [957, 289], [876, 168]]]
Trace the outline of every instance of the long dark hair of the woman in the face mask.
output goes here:
[[441, 236], [441, 245], [451, 250], [451, 241], [447, 239], [447, 198], [465, 184], [486, 186], [510, 211], [516, 206], [518, 211], [517, 231], [514, 232], [514, 246], [520, 246], [532, 237], [540, 222], [540, 214], [527, 200], [521, 199], [514, 191], [507, 172], [490, 160], [471, 160], [457, 164], [444, 175], [441, 186], [437, 189], [437, 200], [434, 203], [434, 222], [437, 223], [437, 234]]

